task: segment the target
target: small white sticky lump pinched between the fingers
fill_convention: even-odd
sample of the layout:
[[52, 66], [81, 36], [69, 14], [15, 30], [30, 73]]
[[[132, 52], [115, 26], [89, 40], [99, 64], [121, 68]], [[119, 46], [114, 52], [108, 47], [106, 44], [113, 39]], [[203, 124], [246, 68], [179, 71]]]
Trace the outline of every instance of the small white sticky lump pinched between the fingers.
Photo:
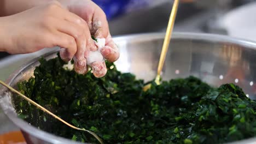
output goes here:
[[101, 54], [101, 49], [105, 46], [106, 43], [106, 39], [102, 38], [102, 39], [97, 39], [97, 41], [95, 41], [95, 44], [98, 47], [97, 51], [90, 51], [87, 60], [87, 64], [91, 65], [93, 62], [103, 62], [104, 61], [104, 57]]

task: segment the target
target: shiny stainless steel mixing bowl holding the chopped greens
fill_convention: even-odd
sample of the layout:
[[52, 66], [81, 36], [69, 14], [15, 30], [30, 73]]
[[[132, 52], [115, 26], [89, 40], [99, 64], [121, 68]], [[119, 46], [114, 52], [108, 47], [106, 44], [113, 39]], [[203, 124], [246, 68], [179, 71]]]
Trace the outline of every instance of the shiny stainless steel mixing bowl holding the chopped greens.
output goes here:
[[[114, 38], [120, 47], [117, 68], [136, 74], [138, 79], [154, 79], [158, 66], [164, 34], [150, 33], [127, 35]], [[56, 56], [52, 51], [46, 59]], [[222, 83], [236, 83], [251, 99], [256, 99], [256, 43], [221, 35], [174, 33], [166, 63], [162, 71], [164, 80], [194, 75], [212, 86]], [[16, 83], [33, 76], [38, 58], [16, 70], [6, 81], [15, 87]], [[4, 113], [24, 133], [28, 143], [78, 143], [46, 133], [18, 118], [14, 110], [15, 97], [8, 89], [0, 91], [0, 105]], [[256, 137], [237, 143], [254, 143]]]

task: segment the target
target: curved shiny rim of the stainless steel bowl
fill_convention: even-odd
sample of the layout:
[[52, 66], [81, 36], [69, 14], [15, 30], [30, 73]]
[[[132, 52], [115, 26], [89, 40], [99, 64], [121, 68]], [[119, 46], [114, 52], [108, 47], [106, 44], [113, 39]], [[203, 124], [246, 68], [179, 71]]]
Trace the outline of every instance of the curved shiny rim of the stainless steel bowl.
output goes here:
[[[133, 42], [139, 42], [139, 41], [145, 41], [145, 40], [152, 40], [152, 39], [162, 39], [164, 38], [165, 33], [143, 33], [143, 34], [129, 34], [129, 35], [118, 35], [116, 37], [113, 37], [114, 41], [122, 41], [122, 40], [132, 40]], [[237, 44], [242, 45], [247, 48], [251, 48], [256, 50], [256, 41], [251, 40], [243, 40], [238, 38], [232, 38], [225, 35], [218, 35], [218, 34], [205, 34], [205, 33], [186, 33], [186, 32], [174, 32], [173, 39], [191, 39], [191, 40], [203, 40], [203, 41], [216, 41], [218, 43], [231, 43], [231, 44]], [[53, 50], [48, 53], [45, 53], [42, 55], [42, 57], [47, 57], [52, 55], [53, 53], [57, 52], [59, 50]], [[32, 59], [30, 62], [27, 62], [26, 64], [23, 64], [19, 69], [15, 70], [14, 73], [12, 73], [7, 80], [5, 80], [8, 85], [10, 85], [11, 82], [13, 82], [20, 74], [22, 70], [30, 66], [31, 64], [37, 62], [39, 57]], [[0, 95], [4, 94], [4, 92], [7, 90], [5, 87], [0, 88]], [[4, 104], [0, 103], [1, 107], [3, 107]], [[18, 118], [15, 113], [11, 110], [4, 110], [5, 115], [19, 128], [21, 128], [22, 131], [25, 131], [26, 133], [37, 137], [41, 140], [44, 140], [46, 142], [50, 143], [73, 143], [73, 144], [79, 144], [80, 142], [74, 142], [72, 140], [56, 136], [53, 134], [50, 134], [46, 131], [42, 131], [34, 127], [33, 125], [28, 124], [24, 120]], [[255, 137], [252, 137], [250, 139], [237, 141], [237, 142], [254, 142], [256, 141]]]

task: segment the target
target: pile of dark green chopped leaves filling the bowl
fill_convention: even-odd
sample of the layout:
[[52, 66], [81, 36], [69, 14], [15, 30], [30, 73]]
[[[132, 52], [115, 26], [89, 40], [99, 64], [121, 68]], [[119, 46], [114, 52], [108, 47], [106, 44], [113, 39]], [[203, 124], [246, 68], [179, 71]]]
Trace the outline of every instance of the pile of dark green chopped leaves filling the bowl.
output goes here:
[[[60, 57], [40, 59], [34, 77], [19, 91], [104, 143], [224, 143], [256, 135], [256, 103], [234, 84], [214, 88], [195, 77], [163, 81], [144, 92], [143, 80], [107, 63], [98, 79], [63, 68]], [[20, 99], [20, 117], [39, 129], [80, 142], [97, 143]]]

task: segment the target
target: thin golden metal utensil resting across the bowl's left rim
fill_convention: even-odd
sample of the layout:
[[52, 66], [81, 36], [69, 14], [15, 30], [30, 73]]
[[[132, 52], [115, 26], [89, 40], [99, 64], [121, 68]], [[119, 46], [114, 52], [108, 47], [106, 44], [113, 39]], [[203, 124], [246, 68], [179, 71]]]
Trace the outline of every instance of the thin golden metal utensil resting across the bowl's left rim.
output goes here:
[[54, 115], [54, 113], [48, 111], [47, 109], [45, 109], [43, 106], [37, 104], [36, 102], [34, 102], [33, 100], [31, 100], [30, 98], [26, 97], [24, 94], [20, 93], [19, 91], [17, 91], [16, 89], [10, 87], [9, 85], [7, 85], [6, 83], [4, 83], [3, 81], [0, 80], [0, 83], [9, 88], [10, 91], [14, 92], [14, 93], [17, 93], [19, 94], [22, 98], [24, 98], [25, 100], [27, 100], [28, 102], [30, 102], [31, 104], [33, 104], [34, 106], [38, 107], [39, 109], [43, 110], [44, 112], [48, 113], [49, 115], [53, 116], [54, 118], [58, 119], [59, 121], [61, 121], [62, 123], [65, 123], [66, 125], [68, 125], [68, 127], [71, 127], [73, 129], [77, 129], [77, 130], [82, 130], [82, 131], [86, 131], [88, 132], [89, 134], [93, 135], [100, 143], [103, 144], [103, 141], [101, 140], [100, 137], [98, 137], [94, 132], [90, 131], [90, 130], [86, 130], [86, 129], [80, 129], [80, 128], [77, 128], [75, 127], [74, 125], [71, 125], [69, 124], [68, 122], [64, 121], [63, 119], [61, 119], [60, 117]]

